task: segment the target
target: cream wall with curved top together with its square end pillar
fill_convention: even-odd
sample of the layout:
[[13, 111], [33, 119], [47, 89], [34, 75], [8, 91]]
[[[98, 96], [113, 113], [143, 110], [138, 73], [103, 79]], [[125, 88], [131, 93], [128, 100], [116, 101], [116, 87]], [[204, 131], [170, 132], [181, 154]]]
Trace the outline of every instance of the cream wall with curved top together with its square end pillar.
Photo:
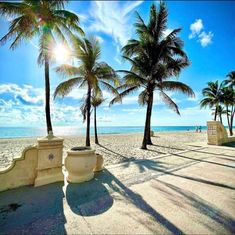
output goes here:
[[25, 148], [20, 158], [0, 171], [0, 191], [63, 181], [62, 155], [63, 139], [53, 135], [39, 138], [37, 145]]

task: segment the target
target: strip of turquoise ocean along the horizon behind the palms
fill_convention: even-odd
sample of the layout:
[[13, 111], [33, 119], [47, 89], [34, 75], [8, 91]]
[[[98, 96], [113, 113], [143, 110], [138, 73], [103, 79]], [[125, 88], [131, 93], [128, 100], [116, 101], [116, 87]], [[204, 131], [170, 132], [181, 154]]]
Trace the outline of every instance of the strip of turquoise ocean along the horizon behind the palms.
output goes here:
[[[153, 131], [195, 131], [195, 126], [152, 126]], [[202, 130], [206, 130], [202, 126]], [[83, 136], [86, 134], [85, 127], [74, 126], [54, 126], [54, 135], [56, 136]], [[105, 126], [98, 127], [98, 134], [127, 134], [143, 132], [143, 126]], [[91, 135], [94, 134], [94, 128], [91, 127]], [[0, 127], [0, 138], [18, 138], [18, 137], [40, 137], [46, 135], [45, 128], [38, 127]]]

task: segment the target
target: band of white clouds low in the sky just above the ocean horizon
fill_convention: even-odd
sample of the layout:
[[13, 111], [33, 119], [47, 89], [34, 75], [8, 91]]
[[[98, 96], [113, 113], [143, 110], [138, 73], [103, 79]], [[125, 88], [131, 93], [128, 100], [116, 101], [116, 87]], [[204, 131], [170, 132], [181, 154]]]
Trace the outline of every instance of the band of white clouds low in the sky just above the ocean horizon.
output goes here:
[[[85, 125], [79, 108], [83, 92], [85, 94], [85, 90], [80, 92], [74, 90], [63, 100], [56, 99], [51, 102], [53, 125], [78, 125], [82, 127]], [[175, 98], [174, 95], [174, 93], [169, 92], [169, 96], [178, 104], [181, 104], [183, 100], [178, 97]], [[126, 125], [127, 123], [132, 126], [144, 125], [146, 107], [136, 107], [138, 105], [138, 95], [124, 98], [122, 104], [116, 104], [115, 107], [108, 107], [111, 98], [108, 92], [104, 92], [104, 97], [108, 100], [98, 110], [97, 120], [99, 126]], [[197, 100], [192, 100], [192, 102], [197, 104]], [[152, 121], [155, 125], [164, 125], [163, 123], [170, 125], [170, 118], [174, 120], [175, 125], [184, 123], [184, 119], [178, 117], [177, 114], [165, 106], [157, 94], [154, 97], [154, 103]], [[25, 84], [0, 84], [0, 111], [0, 126], [28, 126], [29, 123], [30, 126], [45, 126], [44, 89]], [[206, 114], [208, 110], [200, 111], [198, 107], [193, 109], [180, 107], [180, 112], [186, 118], [185, 124], [189, 124], [190, 121], [196, 119], [196, 115], [200, 112]], [[133, 119], [137, 114], [138, 119]], [[187, 119], [187, 116], [192, 119]], [[199, 122], [198, 125], [203, 124]]]

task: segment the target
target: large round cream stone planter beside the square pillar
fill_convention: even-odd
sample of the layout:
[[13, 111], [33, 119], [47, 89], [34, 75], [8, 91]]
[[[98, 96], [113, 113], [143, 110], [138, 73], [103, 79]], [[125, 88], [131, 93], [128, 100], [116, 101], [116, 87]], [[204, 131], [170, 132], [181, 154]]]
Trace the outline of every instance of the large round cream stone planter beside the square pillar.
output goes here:
[[67, 152], [65, 168], [68, 171], [67, 180], [70, 183], [89, 181], [94, 177], [96, 166], [95, 150], [89, 147], [75, 147]]

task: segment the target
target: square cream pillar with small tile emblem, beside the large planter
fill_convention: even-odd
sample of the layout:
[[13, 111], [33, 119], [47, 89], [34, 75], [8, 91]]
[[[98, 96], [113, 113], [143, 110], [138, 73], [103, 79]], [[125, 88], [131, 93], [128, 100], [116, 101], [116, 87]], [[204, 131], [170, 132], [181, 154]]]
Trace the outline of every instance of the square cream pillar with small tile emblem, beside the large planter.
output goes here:
[[37, 177], [34, 186], [64, 181], [62, 173], [63, 139], [49, 134], [38, 139]]

